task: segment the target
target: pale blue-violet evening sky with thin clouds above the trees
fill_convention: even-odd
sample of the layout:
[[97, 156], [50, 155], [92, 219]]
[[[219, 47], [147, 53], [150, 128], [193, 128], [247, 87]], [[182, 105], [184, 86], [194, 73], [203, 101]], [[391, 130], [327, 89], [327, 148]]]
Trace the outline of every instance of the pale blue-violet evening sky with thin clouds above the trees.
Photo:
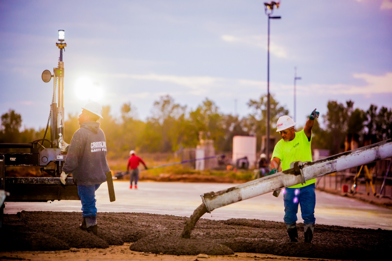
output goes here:
[[[0, 114], [44, 128], [65, 30], [65, 114], [94, 99], [145, 121], [169, 94], [188, 110], [206, 97], [245, 117], [267, 94], [268, 18], [260, 0], [0, 0]], [[270, 19], [270, 94], [296, 120], [330, 100], [391, 108], [392, 0], [281, 0]], [[81, 95], [87, 86], [92, 92]], [[57, 96], [57, 91], [56, 91]], [[66, 116], [67, 119], [67, 116]], [[321, 117], [319, 118], [321, 119]], [[66, 126], [65, 126], [66, 128]]]

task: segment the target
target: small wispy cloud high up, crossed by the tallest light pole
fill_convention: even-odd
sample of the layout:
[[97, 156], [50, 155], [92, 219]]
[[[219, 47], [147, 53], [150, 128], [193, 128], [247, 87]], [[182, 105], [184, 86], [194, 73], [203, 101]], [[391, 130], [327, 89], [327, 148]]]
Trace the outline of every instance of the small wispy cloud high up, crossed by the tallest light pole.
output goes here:
[[[224, 34], [221, 36], [221, 39], [223, 41], [227, 41], [229, 43], [240, 43], [240, 44], [245, 44], [245, 45], [250, 45], [258, 48], [263, 48], [265, 50], [268, 49], [267, 47], [267, 36], [261, 36], [261, 35], [253, 35], [253, 36], [246, 36], [243, 38], [239, 38], [236, 36], [232, 36], [229, 34]], [[287, 58], [287, 51], [285, 47], [281, 45], [277, 45], [273, 41], [270, 42], [270, 52], [271, 54], [280, 57], [280, 58]]]

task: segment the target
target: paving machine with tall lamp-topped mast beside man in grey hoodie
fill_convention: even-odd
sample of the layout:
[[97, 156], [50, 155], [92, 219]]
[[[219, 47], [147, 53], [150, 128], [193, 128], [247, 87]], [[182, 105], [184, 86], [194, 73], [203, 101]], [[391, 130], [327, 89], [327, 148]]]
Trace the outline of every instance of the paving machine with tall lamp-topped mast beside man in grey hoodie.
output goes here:
[[[64, 42], [64, 30], [58, 30], [56, 46], [60, 49], [58, 66], [53, 68], [53, 75], [44, 70], [42, 80], [45, 83], [53, 78], [53, 99], [45, 130], [44, 138], [30, 143], [2, 143], [0, 149], [12, 152], [0, 152], [0, 192], [1, 223], [3, 222], [5, 202], [47, 202], [49, 200], [80, 200], [73, 178], [66, 179], [66, 184], [60, 182], [60, 174], [64, 165], [65, 152], [60, 147], [64, 139], [64, 62], [63, 50], [67, 46]], [[58, 95], [56, 97], [56, 89]], [[57, 101], [57, 102], [56, 102]], [[50, 123], [50, 138], [45, 139]], [[49, 145], [47, 145], [49, 144]], [[45, 145], [45, 146], [44, 146]], [[46, 148], [45, 148], [46, 147]], [[42, 173], [49, 177], [11, 177], [5, 176], [5, 167], [9, 166], [41, 166]]]

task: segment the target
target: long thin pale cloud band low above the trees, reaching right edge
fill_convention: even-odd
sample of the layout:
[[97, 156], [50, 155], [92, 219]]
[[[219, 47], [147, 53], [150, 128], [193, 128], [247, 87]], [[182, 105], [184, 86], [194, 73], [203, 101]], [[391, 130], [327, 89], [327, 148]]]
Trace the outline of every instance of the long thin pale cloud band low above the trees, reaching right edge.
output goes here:
[[[145, 81], [158, 81], [183, 87], [177, 95], [208, 96], [219, 94], [221, 97], [258, 97], [266, 92], [267, 83], [251, 79], [230, 79], [209, 76], [175, 76], [163, 74], [109, 74], [108, 77], [127, 78]], [[392, 94], [392, 72], [381, 76], [366, 73], [353, 74], [354, 79], [362, 79], [363, 85], [349, 84], [297, 84], [297, 94], [314, 93], [317, 95], [371, 95]], [[148, 83], [147, 83], [148, 84]], [[292, 84], [270, 83], [270, 92], [277, 95], [292, 95]], [[174, 93], [173, 92], [173, 93]], [[172, 93], [172, 92], [171, 92]], [[154, 95], [156, 93], [154, 92]], [[145, 98], [149, 92], [132, 94], [133, 97]], [[256, 97], [255, 96], [255, 97]]]

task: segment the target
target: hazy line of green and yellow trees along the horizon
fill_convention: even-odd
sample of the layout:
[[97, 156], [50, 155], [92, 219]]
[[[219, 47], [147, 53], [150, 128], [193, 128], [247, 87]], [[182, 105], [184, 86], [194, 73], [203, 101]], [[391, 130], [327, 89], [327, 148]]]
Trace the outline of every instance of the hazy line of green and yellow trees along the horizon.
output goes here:
[[[199, 144], [200, 133], [203, 133], [203, 139], [214, 140], [217, 151], [231, 151], [235, 135], [253, 135], [257, 138], [257, 150], [260, 151], [261, 139], [266, 133], [266, 104], [266, 95], [250, 99], [247, 106], [251, 113], [239, 117], [222, 113], [208, 98], [196, 109], [187, 110], [187, 106], [176, 103], [170, 95], [164, 95], [153, 103], [152, 115], [145, 121], [138, 119], [134, 106], [129, 102], [122, 105], [119, 118], [111, 115], [110, 106], [103, 106], [100, 123], [106, 135], [109, 157], [126, 157], [131, 149], [155, 153], [194, 148]], [[69, 114], [65, 121], [64, 137], [68, 143], [79, 128], [78, 115]], [[282, 115], [289, 115], [289, 110], [279, 105], [274, 95], [270, 95], [270, 134], [276, 142], [280, 139], [275, 131], [276, 121]], [[321, 115], [323, 126], [316, 121], [313, 127], [313, 149], [329, 149], [331, 154], [339, 153], [344, 148], [347, 135], [356, 135], [362, 140], [371, 139], [372, 142], [391, 137], [391, 108], [378, 108], [372, 104], [364, 111], [354, 108], [353, 101], [328, 101], [327, 112]], [[304, 125], [307, 117], [304, 115], [298, 125]], [[11, 109], [4, 113], [1, 116], [0, 143], [28, 143], [45, 135], [45, 129], [21, 130], [21, 126], [20, 114]], [[50, 128], [46, 133], [46, 139], [50, 139]]]

